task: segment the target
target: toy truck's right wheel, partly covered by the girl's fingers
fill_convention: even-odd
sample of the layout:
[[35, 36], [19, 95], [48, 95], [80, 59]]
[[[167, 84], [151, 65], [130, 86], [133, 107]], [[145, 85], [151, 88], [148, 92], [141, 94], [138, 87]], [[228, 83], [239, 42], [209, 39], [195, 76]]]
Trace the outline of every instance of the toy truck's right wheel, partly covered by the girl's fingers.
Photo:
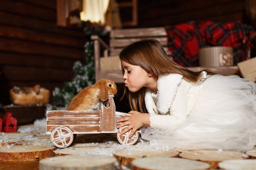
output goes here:
[[117, 131], [117, 139], [119, 141], [120, 144], [127, 144], [127, 145], [133, 145], [135, 144], [135, 142], [138, 140], [139, 138], [139, 133], [138, 130], [135, 132], [135, 134], [133, 134], [133, 136], [131, 138], [129, 138], [129, 135], [131, 133], [132, 130], [129, 130], [128, 132], [126, 132], [125, 134], [121, 135], [121, 131], [126, 128], [128, 126], [123, 126], [121, 128], [118, 129]]

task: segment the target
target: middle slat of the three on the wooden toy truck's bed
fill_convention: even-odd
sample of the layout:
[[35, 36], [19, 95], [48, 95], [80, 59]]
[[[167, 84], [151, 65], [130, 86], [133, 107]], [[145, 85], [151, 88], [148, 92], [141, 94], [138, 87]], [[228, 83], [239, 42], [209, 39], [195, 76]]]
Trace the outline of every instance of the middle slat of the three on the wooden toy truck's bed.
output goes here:
[[99, 125], [99, 117], [47, 118], [47, 125]]

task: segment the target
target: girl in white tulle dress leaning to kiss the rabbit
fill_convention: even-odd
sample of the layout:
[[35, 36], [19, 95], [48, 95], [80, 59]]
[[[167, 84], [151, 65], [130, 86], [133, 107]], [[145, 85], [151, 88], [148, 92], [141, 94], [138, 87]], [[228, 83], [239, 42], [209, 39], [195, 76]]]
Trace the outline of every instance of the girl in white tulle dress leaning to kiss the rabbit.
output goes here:
[[[235, 150], [256, 144], [256, 84], [238, 76], [193, 72], [173, 62], [157, 40], [120, 53], [132, 111], [118, 119], [129, 137], [164, 141], [173, 148]], [[127, 91], [127, 90], [126, 90]], [[147, 114], [149, 113], [149, 114]]]

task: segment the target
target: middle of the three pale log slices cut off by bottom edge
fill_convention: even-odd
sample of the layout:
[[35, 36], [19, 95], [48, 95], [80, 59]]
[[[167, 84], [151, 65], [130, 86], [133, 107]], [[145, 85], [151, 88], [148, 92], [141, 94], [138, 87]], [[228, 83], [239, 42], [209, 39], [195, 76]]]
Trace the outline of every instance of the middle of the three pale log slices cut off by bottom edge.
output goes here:
[[205, 170], [208, 163], [182, 158], [143, 158], [132, 161], [132, 170]]

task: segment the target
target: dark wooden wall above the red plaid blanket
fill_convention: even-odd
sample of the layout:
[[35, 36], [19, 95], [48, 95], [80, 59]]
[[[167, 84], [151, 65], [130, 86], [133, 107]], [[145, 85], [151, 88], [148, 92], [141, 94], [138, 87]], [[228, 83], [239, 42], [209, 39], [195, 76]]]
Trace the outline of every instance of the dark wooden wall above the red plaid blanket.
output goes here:
[[245, 0], [138, 0], [138, 26], [166, 26], [190, 20], [247, 23]]

